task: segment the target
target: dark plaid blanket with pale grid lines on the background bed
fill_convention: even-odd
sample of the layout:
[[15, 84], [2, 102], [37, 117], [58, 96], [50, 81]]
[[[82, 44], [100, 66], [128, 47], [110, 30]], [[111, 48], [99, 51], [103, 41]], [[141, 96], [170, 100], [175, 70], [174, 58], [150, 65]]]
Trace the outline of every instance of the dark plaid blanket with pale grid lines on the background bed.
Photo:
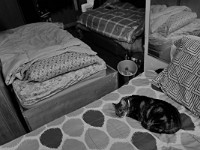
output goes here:
[[116, 2], [83, 13], [77, 22], [110, 38], [133, 43], [144, 31], [144, 16], [143, 8]]

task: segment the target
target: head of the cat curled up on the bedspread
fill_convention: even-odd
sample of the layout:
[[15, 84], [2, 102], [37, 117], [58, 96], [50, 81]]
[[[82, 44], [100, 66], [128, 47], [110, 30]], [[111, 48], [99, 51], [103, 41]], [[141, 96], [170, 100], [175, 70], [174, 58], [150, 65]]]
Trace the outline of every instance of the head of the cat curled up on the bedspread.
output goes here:
[[115, 108], [115, 114], [118, 117], [124, 117], [129, 112], [129, 106], [127, 103], [127, 97], [123, 97], [119, 103], [115, 104], [113, 103], [113, 106]]

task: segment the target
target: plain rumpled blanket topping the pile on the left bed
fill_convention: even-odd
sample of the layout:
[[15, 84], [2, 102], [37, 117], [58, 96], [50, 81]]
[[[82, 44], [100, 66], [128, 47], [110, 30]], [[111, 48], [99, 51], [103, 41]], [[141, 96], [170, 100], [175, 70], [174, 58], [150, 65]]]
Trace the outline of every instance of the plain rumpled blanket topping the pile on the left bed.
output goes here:
[[31, 65], [66, 52], [96, 55], [88, 45], [57, 23], [27, 24], [0, 34], [0, 59], [6, 84], [18, 77], [23, 64]]

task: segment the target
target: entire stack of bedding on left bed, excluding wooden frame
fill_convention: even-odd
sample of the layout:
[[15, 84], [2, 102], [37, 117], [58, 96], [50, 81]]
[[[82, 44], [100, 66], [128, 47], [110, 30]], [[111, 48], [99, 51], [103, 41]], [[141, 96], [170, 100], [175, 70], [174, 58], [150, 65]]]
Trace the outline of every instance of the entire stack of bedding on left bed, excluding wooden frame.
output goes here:
[[30, 107], [106, 69], [91, 48], [59, 23], [27, 24], [0, 33], [5, 83]]

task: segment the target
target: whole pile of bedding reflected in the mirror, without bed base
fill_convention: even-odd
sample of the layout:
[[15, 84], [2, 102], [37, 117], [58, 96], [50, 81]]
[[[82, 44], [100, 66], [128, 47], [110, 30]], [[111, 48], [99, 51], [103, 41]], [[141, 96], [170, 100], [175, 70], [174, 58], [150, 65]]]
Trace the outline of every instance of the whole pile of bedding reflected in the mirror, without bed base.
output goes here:
[[152, 5], [150, 42], [174, 41], [185, 35], [199, 35], [200, 19], [186, 6]]

